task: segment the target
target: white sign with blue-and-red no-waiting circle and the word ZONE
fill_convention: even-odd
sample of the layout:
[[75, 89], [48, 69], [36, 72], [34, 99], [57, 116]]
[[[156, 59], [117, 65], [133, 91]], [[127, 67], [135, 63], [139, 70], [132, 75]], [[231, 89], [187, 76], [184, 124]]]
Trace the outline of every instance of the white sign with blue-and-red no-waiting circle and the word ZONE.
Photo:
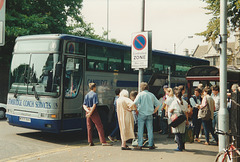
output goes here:
[[[151, 51], [150, 32], [140, 32], [132, 34], [132, 58], [131, 66], [133, 69], [149, 67], [149, 51]], [[150, 39], [149, 39], [150, 38]], [[149, 48], [150, 47], [150, 48]]]

